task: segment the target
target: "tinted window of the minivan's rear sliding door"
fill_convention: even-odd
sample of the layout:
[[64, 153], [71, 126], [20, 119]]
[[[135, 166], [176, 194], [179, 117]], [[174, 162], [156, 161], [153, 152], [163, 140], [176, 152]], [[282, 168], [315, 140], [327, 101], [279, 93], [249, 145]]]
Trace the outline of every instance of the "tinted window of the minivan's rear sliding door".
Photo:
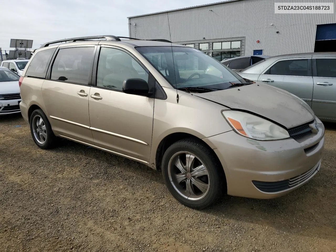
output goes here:
[[87, 85], [92, 71], [94, 47], [59, 49], [51, 68], [51, 79]]

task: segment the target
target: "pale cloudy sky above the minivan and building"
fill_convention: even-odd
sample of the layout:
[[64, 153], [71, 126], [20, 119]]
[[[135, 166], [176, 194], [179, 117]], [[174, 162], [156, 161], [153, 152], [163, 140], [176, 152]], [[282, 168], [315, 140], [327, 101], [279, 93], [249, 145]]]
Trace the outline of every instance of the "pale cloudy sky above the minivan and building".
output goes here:
[[0, 47], [9, 50], [11, 38], [32, 39], [32, 49], [36, 49], [45, 42], [64, 38], [128, 36], [128, 16], [218, 1], [17, 0], [16, 7], [11, 1], [1, 1]]

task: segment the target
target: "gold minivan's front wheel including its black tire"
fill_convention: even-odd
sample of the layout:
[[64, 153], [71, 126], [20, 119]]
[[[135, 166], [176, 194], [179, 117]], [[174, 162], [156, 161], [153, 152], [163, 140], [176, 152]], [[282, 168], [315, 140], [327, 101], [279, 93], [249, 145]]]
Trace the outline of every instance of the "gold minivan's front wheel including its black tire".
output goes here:
[[215, 203], [226, 184], [223, 168], [213, 151], [193, 138], [168, 147], [163, 155], [162, 175], [174, 198], [195, 209]]

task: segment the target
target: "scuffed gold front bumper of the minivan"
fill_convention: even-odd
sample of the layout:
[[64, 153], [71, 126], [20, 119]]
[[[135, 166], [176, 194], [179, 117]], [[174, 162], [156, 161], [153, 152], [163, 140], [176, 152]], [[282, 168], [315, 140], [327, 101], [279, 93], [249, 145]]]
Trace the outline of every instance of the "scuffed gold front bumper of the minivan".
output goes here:
[[300, 140], [258, 141], [235, 131], [204, 138], [225, 172], [227, 193], [233, 196], [276, 198], [308, 182], [320, 169], [324, 125]]

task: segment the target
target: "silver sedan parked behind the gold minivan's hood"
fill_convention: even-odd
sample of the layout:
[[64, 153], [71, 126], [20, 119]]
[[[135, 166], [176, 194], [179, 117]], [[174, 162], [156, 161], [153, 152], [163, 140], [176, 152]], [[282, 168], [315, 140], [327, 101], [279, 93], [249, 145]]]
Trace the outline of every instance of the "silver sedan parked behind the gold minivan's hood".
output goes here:
[[336, 52], [279, 55], [239, 73], [303, 99], [323, 121], [336, 122]]

